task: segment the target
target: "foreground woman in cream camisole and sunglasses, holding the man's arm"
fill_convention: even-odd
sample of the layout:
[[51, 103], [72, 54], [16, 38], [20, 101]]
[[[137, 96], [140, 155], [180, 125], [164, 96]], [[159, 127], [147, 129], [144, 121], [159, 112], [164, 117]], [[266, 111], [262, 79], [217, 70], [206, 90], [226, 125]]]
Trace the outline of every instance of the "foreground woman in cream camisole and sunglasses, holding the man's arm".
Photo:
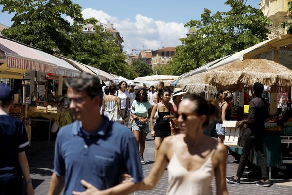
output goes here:
[[140, 183], [122, 183], [101, 192], [83, 182], [88, 187], [87, 195], [126, 195], [137, 190], [151, 190], [168, 162], [167, 195], [211, 195], [214, 176], [216, 194], [228, 195], [225, 180], [227, 148], [203, 134], [210, 120], [218, 116], [218, 111], [216, 101], [207, 101], [196, 94], [187, 95], [178, 109], [181, 134], [164, 139], [149, 176]]

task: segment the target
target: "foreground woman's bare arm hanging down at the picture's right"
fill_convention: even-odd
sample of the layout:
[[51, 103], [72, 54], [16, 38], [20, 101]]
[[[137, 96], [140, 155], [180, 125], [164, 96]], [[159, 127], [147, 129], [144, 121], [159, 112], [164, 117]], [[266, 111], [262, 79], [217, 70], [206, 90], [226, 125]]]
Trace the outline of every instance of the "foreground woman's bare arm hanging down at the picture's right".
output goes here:
[[212, 161], [217, 164], [215, 166], [216, 195], [228, 195], [226, 186], [226, 160], [227, 148], [222, 143], [219, 143], [212, 157]]

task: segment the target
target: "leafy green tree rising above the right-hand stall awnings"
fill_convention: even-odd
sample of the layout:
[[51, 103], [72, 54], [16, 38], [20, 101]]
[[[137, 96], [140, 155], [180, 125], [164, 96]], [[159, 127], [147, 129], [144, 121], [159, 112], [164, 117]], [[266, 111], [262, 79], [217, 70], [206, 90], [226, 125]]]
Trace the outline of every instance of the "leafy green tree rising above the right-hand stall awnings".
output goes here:
[[201, 21], [191, 20], [185, 27], [196, 31], [181, 38], [171, 64], [171, 73], [181, 75], [203, 64], [251, 47], [267, 39], [271, 21], [244, 0], [226, 0], [231, 9], [216, 12], [204, 9]]

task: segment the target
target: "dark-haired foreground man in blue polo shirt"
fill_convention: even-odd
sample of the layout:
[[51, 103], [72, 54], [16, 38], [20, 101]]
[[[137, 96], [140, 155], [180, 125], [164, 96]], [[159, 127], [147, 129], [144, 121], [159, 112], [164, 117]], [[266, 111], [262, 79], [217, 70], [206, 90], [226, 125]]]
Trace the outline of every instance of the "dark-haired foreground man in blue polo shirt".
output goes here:
[[55, 143], [49, 195], [84, 191], [81, 179], [98, 189], [119, 183], [127, 172], [143, 180], [137, 141], [128, 128], [100, 115], [102, 86], [97, 76], [81, 73], [67, 80], [68, 100], [76, 121], [61, 128]]

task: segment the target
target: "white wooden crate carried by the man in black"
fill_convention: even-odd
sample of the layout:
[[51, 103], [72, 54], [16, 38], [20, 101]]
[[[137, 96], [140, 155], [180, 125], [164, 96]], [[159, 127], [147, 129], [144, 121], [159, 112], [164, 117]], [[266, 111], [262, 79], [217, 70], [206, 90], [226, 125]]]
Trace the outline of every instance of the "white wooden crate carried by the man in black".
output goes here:
[[246, 125], [244, 128], [238, 128], [237, 126], [238, 122], [236, 120], [223, 121], [222, 127], [225, 127], [226, 129], [224, 145], [235, 148], [242, 148], [240, 142]]

